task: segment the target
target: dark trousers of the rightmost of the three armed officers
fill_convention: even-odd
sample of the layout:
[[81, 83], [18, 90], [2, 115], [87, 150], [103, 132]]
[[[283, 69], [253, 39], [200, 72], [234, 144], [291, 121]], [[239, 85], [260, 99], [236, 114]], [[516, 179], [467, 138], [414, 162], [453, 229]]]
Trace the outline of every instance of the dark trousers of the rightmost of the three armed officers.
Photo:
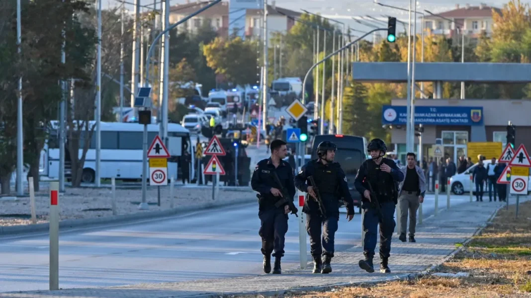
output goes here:
[[[365, 256], [374, 256], [376, 248], [376, 234], [380, 218], [376, 209], [372, 208], [369, 203], [363, 203], [363, 231], [365, 232], [363, 254]], [[384, 224], [380, 224], [380, 258], [389, 258], [391, 251], [391, 237], [395, 231], [395, 203], [386, 201], [382, 204], [382, 215]]]

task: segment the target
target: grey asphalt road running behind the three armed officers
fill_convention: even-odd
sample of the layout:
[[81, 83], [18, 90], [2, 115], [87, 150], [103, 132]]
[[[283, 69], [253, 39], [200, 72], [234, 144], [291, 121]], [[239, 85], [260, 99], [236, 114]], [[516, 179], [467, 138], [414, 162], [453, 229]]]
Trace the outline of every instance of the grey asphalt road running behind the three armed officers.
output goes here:
[[[456, 206], [468, 201], [468, 196], [453, 196], [452, 201]], [[424, 217], [433, 213], [433, 202], [433, 196], [426, 198]], [[440, 206], [446, 207], [446, 196], [441, 196]], [[361, 216], [357, 214], [350, 223], [344, 216], [336, 233], [336, 250], [361, 243]], [[258, 208], [246, 204], [126, 225], [67, 230], [59, 236], [59, 287], [262, 274], [259, 226]], [[48, 242], [47, 234], [0, 238], [0, 292], [48, 289]], [[306, 249], [309, 253], [309, 245]], [[283, 268], [297, 267], [298, 223], [293, 215], [285, 250]]]

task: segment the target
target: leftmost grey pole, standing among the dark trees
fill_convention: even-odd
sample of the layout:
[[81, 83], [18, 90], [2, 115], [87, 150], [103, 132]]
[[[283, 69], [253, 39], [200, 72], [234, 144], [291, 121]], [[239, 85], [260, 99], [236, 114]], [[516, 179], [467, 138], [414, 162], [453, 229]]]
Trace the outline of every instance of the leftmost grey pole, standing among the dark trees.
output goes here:
[[[22, 16], [20, 14], [21, 3], [16, 1], [16, 43], [18, 45], [19, 59], [21, 59], [22, 43]], [[22, 186], [22, 174], [24, 166], [24, 138], [22, 134], [22, 75], [19, 76], [19, 96], [16, 101], [16, 195], [22, 196], [24, 188]]]

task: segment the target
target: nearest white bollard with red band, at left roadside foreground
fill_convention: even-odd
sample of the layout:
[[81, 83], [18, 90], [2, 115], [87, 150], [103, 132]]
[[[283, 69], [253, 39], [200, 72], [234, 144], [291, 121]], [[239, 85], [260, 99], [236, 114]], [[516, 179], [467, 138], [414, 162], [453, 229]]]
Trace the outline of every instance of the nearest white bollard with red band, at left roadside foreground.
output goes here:
[[59, 290], [59, 182], [50, 182], [50, 291]]

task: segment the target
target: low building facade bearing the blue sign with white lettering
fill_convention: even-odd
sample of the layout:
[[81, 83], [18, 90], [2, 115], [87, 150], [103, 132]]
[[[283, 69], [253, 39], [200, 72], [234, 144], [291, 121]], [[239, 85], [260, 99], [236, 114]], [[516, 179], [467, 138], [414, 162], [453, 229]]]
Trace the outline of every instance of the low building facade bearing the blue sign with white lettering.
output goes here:
[[[430, 156], [431, 146], [441, 144], [445, 158], [457, 160], [469, 156], [469, 142], [500, 142], [506, 145], [507, 124], [516, 126], [515, 147], [531, 148], [531, 100], [498, 99], [416, 99], [415, 126], [423, 125], [423, 156]], [[393, 99], [382, 107], [382, 124], [391, 130], [391, 143], [396, 144], [398, 158], [406, 156], [406, 100]], [[419, 138], [415, 137], [418, 154]], [[391, 148], [390, 148], [391, 150]], [[494, 156], [486, 156], [491, 158]], [[495, 156], [498, 158], [498, 156]], [[426, 158], [427, 160], [427, 158]]]

